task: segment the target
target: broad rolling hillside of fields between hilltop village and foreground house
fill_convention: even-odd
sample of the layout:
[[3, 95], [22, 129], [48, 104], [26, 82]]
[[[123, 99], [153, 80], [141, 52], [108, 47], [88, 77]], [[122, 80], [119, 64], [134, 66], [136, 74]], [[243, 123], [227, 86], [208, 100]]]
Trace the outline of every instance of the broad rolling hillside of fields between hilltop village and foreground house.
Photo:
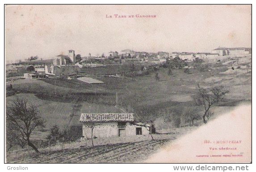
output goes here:
[[[241, 64], [248, 62], [248, 59], [239, 60]], [[146, 109], [147, 113], [155, 114], [156, 130], [167, 131], [176, 127], [173, 124], [175, 115], [180, 116], [178, 126], [189, 125], [183, 116], [185, 111], [194, 107], [193, 96], [198, 83], [203, 88], [223, 85], [229, 90], [225, 95], [225, 102], [211, 108], [214, 112], [211, 120], [219, 115], [219, 110], [228, 111], [241, 102], [251, 102], [251, 69], [241, 66], [233, 70], [232, 64], [229, 65], [230, 61], [232, 62], [232, 59], [223, 62], [228, 62], [225, 65], [208, 64], [209, 68], [205, 71], [191, 68], [189, 73], [185, 73], [184, 69], [173, 69], [172, 75], [168, 75], [168, 68], [159, 68], [157, 71], [140, 76], [93, 77], [105, 84], [87, 84], [76, 80], [76, 77], [72, 77], [71, 80], [65, 77], [15, 80], [8, 84], [12, 84], [17, 94], [6, 98], [6, 106], [10, 106], [16, 96], [28, 99], [30, 104], [38, 106], [40, 114], [46, 119], [46, 128], [33, 132], [34, 140], [46, 141], [50, 128], [55, 124], [58, 124], [60, 129], [67, 126], [81, 127], [79, 122], [81, 113], [122, 112], [118, 107], [126, 112], [135, 113]], [[98, 69], [97, 72], [99, 72]], [[109, 71], [106, 70], [106, 72]], [[156, 72], [159, 80], [155, 80]], [[200, 107], [197, 111], [202, 113]], [[138, 115], [141, 114], [138, 113]], [[194, 122], [195, 125], [201, 124], [201, 120]], [[80, 137], [80, 133], [73, 134], [77, 138]]]

